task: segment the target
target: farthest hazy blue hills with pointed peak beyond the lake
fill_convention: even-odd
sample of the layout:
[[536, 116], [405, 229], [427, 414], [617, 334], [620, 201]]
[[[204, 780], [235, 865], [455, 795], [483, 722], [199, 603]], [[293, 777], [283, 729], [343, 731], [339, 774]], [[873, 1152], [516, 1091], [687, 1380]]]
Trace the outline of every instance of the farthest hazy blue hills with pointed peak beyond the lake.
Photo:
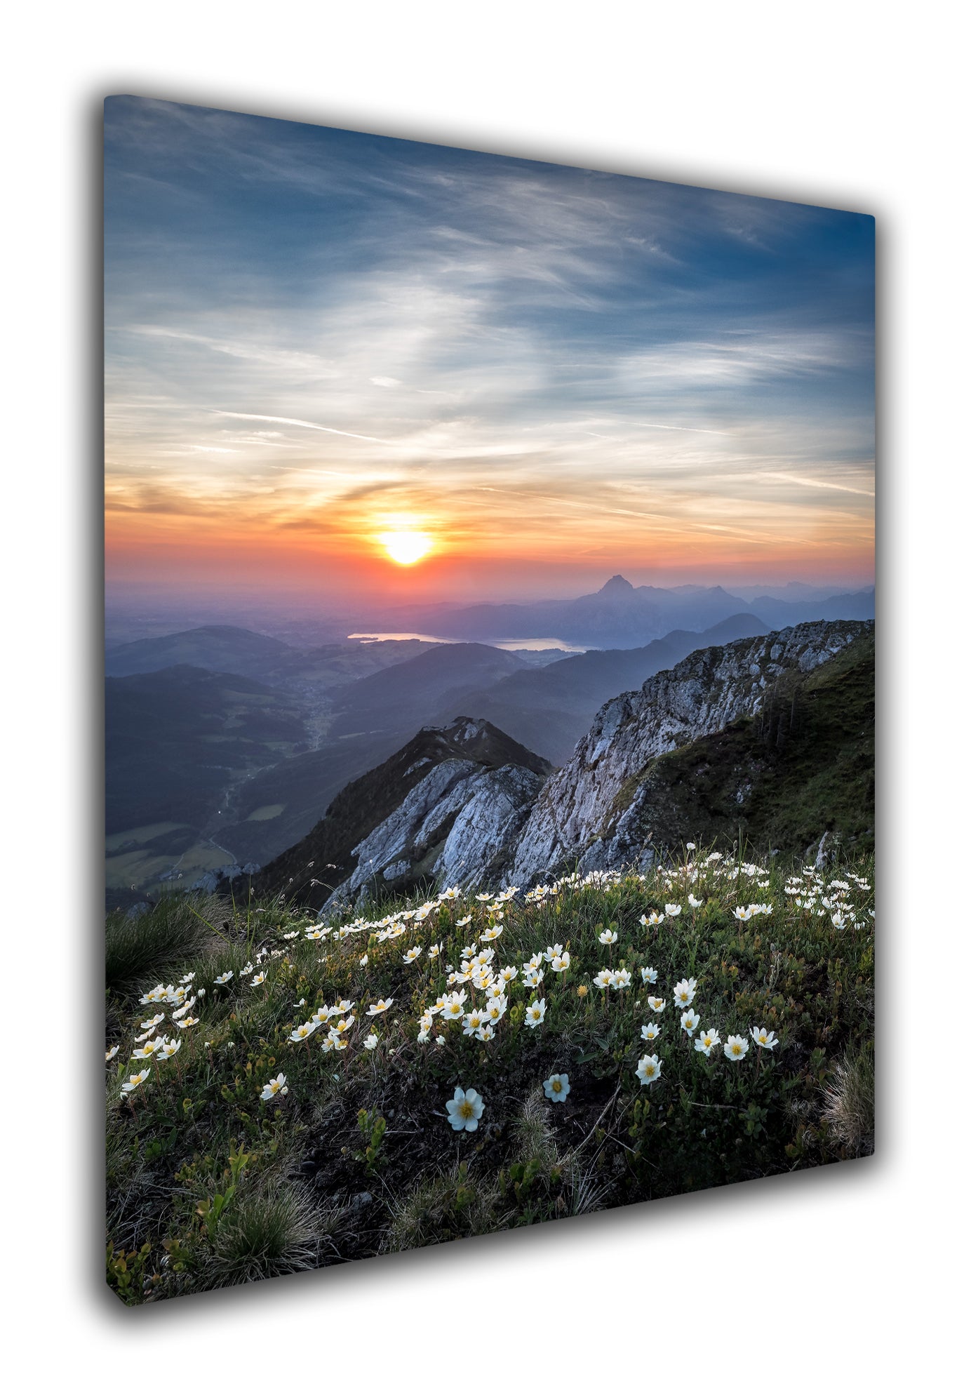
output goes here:
[[630, 648], [644, 647], [674, 630], [704, 631], [744, 612], [757, 613], [772, 627], [814, 619], [872, 617], [873, 591], [825, 601], [791, 596], [747, 601], [719, 587], [634, 588], [616, 574], [599, 592], [582, 598], [417, 609], [407, 610], [406, 616], [407, 626], [469, 641], [558, 637], [582, 647]]

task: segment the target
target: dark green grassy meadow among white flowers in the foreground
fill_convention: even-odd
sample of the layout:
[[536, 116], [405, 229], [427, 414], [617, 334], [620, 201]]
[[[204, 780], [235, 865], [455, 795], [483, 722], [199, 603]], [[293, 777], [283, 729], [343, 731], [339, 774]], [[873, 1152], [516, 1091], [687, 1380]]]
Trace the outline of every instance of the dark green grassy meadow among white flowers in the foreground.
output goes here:
[[[175, 1296], [872, 1151], [873, 896], [858, 883], [872, 885], [872, 860], [821, 876], [825, 897], [851, 906], [845, 927], [818, 896], [810, 911], [796, 903], [803, 893], [786, 893], [792, 879], [803, 889], [800, 865], [693, 860], [681, 853], [667, 869], [600, 888], [568, 879], [494, 914], [472, 897], [435, 899], [423, 921], [383, 942], [374, 924], [392, 904], [322, 939], [308, 939], [308, 917], [280, 904], [196, 902], [192, 913], [187, 897], [172, 897], [116, 921], [108, 1032], [120, 1053], [106, 1079], [109, 1280], [119, 1296]], [[828, 889], [834, 878], [851, 889]], [[666, 903], [681, 914], [656, 928], [639, 923]], [[772, 911], [737, 920], [736, 906], [749, 903]], [[456, 927], [467, 914], [472, 923]], [[536, 993], [512, 983], [490, 1042], [435, 1018], [420, 1043], [423, 1009], [494, 916], [501, 937], [477, 946], [495, 949], [495, 967], [519, 970], [562, 944], [569, 969], [544, 963]], [[613, 946], [599, 942], [604, 927], [620, 935]], [[435, 942], [442, 952], [430, 959]], [[413, 945], [423, 953], [406, 965]], [[253, 973], [243, 973], [248, 963]], [[642, 966], [658, 970], [656, 988], [642, 984]], [[631, 987], [597, 991], [602, 967], [630, 970]], [[266, 977], [253, 987], [257, 970]], [[222, 972], [234, 976], [220, 987]], [[172, 1005], [141, 1005], [139, 995], [189, 973], [206, 994], [189, 1014], [197, 1023], [176, 1030]], [[742, 1063], [721, 1046], [705, 1058], [681, 1030], [672, 990], [684, 977], [697, 980], [701, 1029], [749, 1037]], [[666, 998], [660, 1014], [646, 1005], [655, 990]], [[530, 1029], [523, 1015], [534, 995], [547, 1009]], [[392, 1007], [369, 1018], [382, 997]], [[326, 1029], [290, 1040], [318, 1007], [341, 998], [355, 1002], [343, 1049], [323, 1051]], [[473, 990], [466, 1008], [483, 1002]], [[150, 1078], [123, 1098], [141, 1022], [160, 1009], [160, 1032], [180, 1047], [166, 1063], [148, 1061]], [[649, 1019], [662, 1037], [648, 1047]], [[757, 1051], [754, 1025], [778, 1036], [775, 1051]], [[379, 1042], [369, 1050], [372, 1030]], [[662, 1075], [645, 1086], [638, 1060], [655, 1049]], [[288, 1093], [263, 1102], [263, 1085], [280, 1072]], [[543, 1093], [553, 1072], [569, 1075], [561, 1103]], [[483, 1096], [474, 1133], [448, 1123], [456, 1085]]]

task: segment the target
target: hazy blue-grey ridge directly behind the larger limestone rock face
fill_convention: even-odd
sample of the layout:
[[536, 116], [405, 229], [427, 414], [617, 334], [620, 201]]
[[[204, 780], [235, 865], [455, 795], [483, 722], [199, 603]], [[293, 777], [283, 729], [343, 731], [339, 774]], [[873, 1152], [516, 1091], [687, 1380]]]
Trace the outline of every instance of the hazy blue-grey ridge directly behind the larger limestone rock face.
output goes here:
[[540, 669], [518, 671], [488, 689], [451, 696], [435, 722], [445, 722], [446, 711], [481, 715], [553, 763], [565, 763], [611, 696], [637, 689], [700, 647], [770, 630], [760, 617], [737, 613], [702, 633], [672, 631], [646, 647], [586, 651]]

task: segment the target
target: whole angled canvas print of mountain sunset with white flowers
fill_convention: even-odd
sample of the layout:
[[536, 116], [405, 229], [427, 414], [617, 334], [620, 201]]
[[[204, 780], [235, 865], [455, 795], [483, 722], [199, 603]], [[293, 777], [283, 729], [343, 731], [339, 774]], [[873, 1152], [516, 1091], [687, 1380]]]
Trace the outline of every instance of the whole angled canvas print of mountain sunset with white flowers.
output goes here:
[[123, 1303], [873, 1151], [873, 332], [866, 214], [108, 99]]

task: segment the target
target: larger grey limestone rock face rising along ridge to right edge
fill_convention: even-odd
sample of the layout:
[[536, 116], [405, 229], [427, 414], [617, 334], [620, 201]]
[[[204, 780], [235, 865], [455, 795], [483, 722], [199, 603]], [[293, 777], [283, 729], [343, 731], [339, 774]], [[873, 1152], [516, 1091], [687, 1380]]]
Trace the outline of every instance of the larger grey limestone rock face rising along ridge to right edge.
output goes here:
[[637, 818], [638, 777], [651, 759], [758, 714], [777, 676], [816, 669], [872, 627], [811, 622], [708, 647], [609, 700], [569, 763], [543, 785], [508, 881], [526, 888], [572, 861], [588, 871], [649, 864]]

